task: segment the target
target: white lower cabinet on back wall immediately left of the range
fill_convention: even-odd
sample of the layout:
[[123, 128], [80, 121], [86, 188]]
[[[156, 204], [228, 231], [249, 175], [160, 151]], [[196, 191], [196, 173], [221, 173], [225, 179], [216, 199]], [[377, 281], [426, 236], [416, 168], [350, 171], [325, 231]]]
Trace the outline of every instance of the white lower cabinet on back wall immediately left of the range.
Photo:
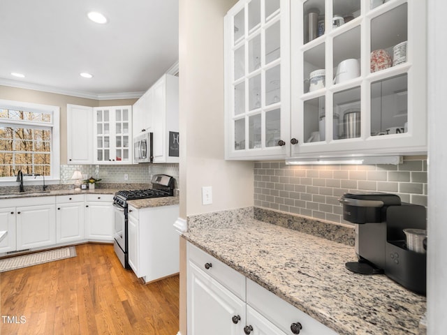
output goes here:
[[91, 241], [113, 241], [113, 195], [87, 194], [85, 198], [86, 237]]

